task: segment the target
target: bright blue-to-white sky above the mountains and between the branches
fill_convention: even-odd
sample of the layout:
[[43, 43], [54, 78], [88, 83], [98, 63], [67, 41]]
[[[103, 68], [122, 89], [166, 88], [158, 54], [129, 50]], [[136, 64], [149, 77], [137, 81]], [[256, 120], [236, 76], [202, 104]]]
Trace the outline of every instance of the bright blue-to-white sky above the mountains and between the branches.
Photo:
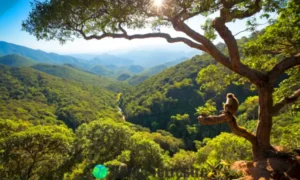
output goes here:
[[[40, 49], [46, 52], [56, 52], [61, 54], [81, 54], [81, 53], [111, 53], [124, 52], [135, 49], [166, 49], [166, 50], [192, 50], [183, 44], [168, 44], [163, 39], [144, 39], [128, 41], [124, 39], [104, 39], [101, 41], [76, 39], [73, 42], [67, 42], [60, 45], [57, 41], [37, 41], [34, 36], [27, 32], [21, 31], [22, 20], [25, 20], [30, 12], [30, 0], [0, 0], [0, 41], [6, 41], [14, 44], [27, 46], [33, 49]], [[214, 16], [214, 15], [212, 15]], [[196, 31], [200, 31], [200, 24], [204, 22], [204, 18], [195, 17], [187, 23]], [[233, 33], [245, 29], [245, 21], [236, 21], [228, 24]], [[142, 30], [149, 32], [150, 30]], [[163, 29], [172, 36], [184, 36], [172, 29]], [[238, 37], [248, 35], [242, 33]], [[221, 41], [217, 39], [217, 41]]]

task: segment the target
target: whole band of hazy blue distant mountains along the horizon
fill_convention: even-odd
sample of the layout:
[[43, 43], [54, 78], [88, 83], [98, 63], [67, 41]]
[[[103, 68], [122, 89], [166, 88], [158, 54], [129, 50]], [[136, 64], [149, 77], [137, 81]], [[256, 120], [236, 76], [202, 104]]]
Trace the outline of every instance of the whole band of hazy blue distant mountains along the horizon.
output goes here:
[[[184, 59], [187, 59], [183, 57], [189, 57], [190, 54], [194, 53], [195, 51], [190, 53], [165, 50], [131, 51], [129, 53], [125, 53], [123, 55], [120, 54], [118, 56], [110, 54], [85, 55], [85, 57], [93, 57], [92, 60], [87, 61], [71, 56], [47, 53], [41, 50], [33, 50], [24, 46], [0, 41], [0, 55], [5, 56], [10, 54], [18, 54], [20, 56], [32, 59], [37, 63], [56, 65], [67, 64], [69, 67], [78, 70], [89, 71], [101, 76], [114, 79], [117, 79], [122, 74], [128, 74], [131, 77], [139, 74], [143, 77], [134, 78], [138, 79], [138, 82], [140, 82], [141, 79], [146, 79], [146, 76], [150, 77], [156, 73], [161, 72], [166, 67], [170, 67], [182, 62]], [[14, 59], [18, 58], [15, 57]], [[17, 60], [15, 60], [15, 62], [11, 61], [11, 65], [32, 65], [32, 63], [29, 63], [28, 61], [25, 63], [25, 60], [23, 60], [23, 63], [21, 63], [20, 60], [19, 62], [16, 61]], [[4, 64], [7, 63], [8, 62], [5, 62]], [[164, 65], [166, 67], [162, 67], [161, 65]], [[151, 69], [145, 70], [144, 67], [151, 67]], [[133, 82], [133, 84], [137, 83]]]

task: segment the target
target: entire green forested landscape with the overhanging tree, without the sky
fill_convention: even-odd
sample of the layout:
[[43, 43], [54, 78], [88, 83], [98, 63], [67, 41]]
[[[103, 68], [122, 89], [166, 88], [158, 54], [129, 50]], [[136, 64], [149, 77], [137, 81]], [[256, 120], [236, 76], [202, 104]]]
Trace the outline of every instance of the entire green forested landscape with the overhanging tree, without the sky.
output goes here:
[[[151, 2], [32, 3], [22, 26], [40, 40], [163, 38], [203, 53], [119, 75], [0, 47], [0, 179], [89, 180], [99, 164], [107, 180], [300, 179], [298, 1]], [[261, 30], [255, 14], [268, 22]], [[185, 23], [197, 16], [203, 35]], [[241, 19], [251, 35], [237, 39], [226, 23]], [[127, 33], [147, 26], [189, 38]]]

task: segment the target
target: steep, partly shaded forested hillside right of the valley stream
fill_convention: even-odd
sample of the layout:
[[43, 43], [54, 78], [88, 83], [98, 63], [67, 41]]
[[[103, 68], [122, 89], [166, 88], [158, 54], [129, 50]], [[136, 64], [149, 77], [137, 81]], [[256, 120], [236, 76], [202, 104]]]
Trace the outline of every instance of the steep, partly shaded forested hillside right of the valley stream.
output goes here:
[[[157, 129], [170, 130], [171, 116], [177, 114], [189, 114], [190, 120], [195, 126], [191, 129], [199, 129], [195, 123], [195, 108], [204, 103], [198, 94], [199, 85], [195, 78], [202, 67], [212, 63], [196, 56], [182, 64], [166, 69], [136, 86], [131, 92], [124, 93], [121, 99], [121, 108], [126, 120], [149, 127], [152, 131]], [[184, 127], [184, 125], [181, 125]], [[177, 125], [178, 128], [179, 124]], [[218, 127], [218, 128], [216, 128]], [[220, 126], [205, 126], [201, 130], [206, 132], [197, 139], [214, 136], [221, 132]], [[175, 136], [189, 138], [192, 143], [195, 134], [184, 135], [177, 128]], [[218, 129], [218, 130], [217, 130]], [[222, 128], [224, 129], [224, 128]], [[216, 132], [217, 131], [217, 132]]]

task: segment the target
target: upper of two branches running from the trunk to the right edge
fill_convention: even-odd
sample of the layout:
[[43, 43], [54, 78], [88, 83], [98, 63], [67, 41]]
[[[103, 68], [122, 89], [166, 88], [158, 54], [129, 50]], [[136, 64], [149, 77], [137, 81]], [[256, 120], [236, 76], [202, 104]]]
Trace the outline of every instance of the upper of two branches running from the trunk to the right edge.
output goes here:
[[273, 69], [268, 72], [270, 81], [274, 83], [287, 69], [297, 65], [300, 65], [300, 53], [292, 57], [285, 58], [280, 63], [276, 64]]

